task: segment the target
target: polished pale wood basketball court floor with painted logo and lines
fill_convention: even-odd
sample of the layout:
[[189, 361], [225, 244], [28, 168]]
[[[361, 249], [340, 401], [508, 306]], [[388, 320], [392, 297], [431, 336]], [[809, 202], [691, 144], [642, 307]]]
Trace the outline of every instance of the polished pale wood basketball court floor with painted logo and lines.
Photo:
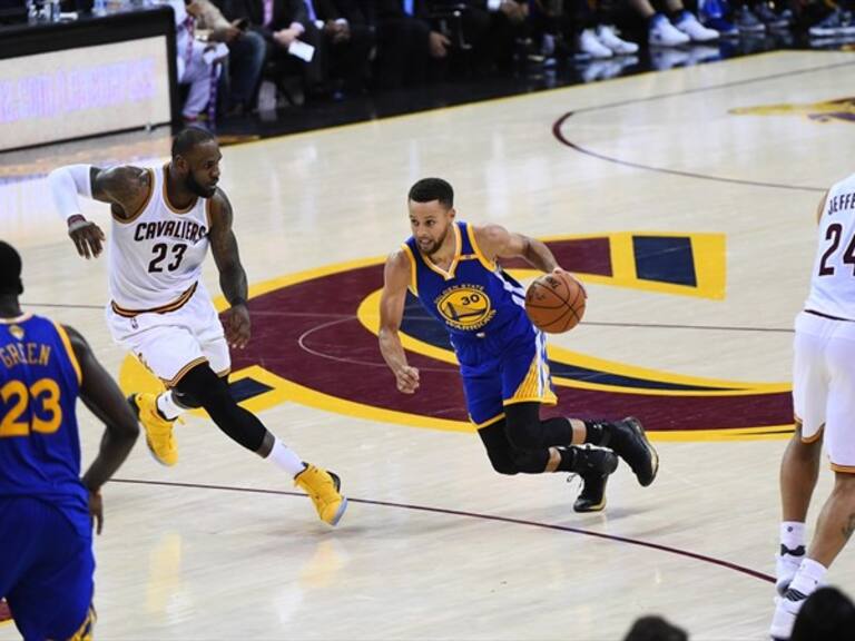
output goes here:
[[[352, 505], [322, 526], [202, 417], [178, 428], [175, 469], [140, 443], [105, 491], [99, 638], [593, 641], [661, 613], [699, 641], [764, 639], [790, 327], [816, 203], [852, 171], [855, 124], [827, 102], [854, 81], [853, 53], [779, 52], [225, 148], [255, 285], [257, 338], [236, 377], [273, 431], [341, 474]], [[126, 387], [147, 382], [110, 342], [106, 260], [76, 257], [43, 172], [167, 154], [155, 132], [0, 156], [0, 236], [22, 253], [28, 307], [82, 331]], [[411, 347], [438, 400], [401, 405], [360, 303], [429, 175], [454, 185], [462, 218], [569, 248], [590, 300], [553, 357], [602, 376], [567, 374], [560, 395], [583, 415], [637, 398], [659, 427], [652, 486], [621, 466], [606, 512], [578, 515], [578, 482], [493, 473], [428, 335]], [[86, 213], [107, 225], [104, 206]], [[608, 269], [573, 252], [582, 237], [600, 239]], [[205, 275], [218, 292], [213, 262]], [[100, 430], [81, 416], [88, 460]], [[853, 593], [853, 576], [847, 550], [831, 580]]]

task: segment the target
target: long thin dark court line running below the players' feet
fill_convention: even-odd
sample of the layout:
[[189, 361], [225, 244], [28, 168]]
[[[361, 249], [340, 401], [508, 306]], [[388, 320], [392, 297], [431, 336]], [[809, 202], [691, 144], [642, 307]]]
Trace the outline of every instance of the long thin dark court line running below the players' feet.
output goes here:
[[[276, 494], [281, 496], [298, 496], [306, 499], [307, 496], [302, 492], [286, 492], [283, 490], [261, 490], [256, 487], [234, 487], [230, 485], [207, 485], [202, 483], [174, 483], [167, 481], [144, 481], [139, 479], [112, 479], [114, 483], [125, 483], [130, 485], [160, 485], [164, 487], [185, 487], [190, 490], [217, 490], [222, 492], [243, 492], [249, 494]], [[661, 545], [659, 543], [651, 543], [649, 541], [641, 541], [639, 539], [630, 539], [628, 536], [618, 536], [616, 534], [603, 534], [602, 532], [593, 532], [591, 530], [582, 530], [581, 527], [570, 527], [568, 525], [557, 525], [553, 523], [541, 523], [539, 521], [527, 521], [523, 519], [512, 519], [510, 516], [497, 516], [494, 514], [481, 514], [478, 512], [465, 512], [462, 510], [450, 510], [446, 507], [431, 507], [428, 505], [413, 505], [411, 503], [394, 503], [391, 501], [374, 501], [371, 499], [352, 499], [347, 497], [351, 503], [361, 503], [363, 505], [377, 505], [381, 507], [393, 507], [397, 510], [411, 510], [414, 512], [430, 512], [433, 514], [444, 514], [449, 516], [463, 516], [466, 519], [480, 519], [482, 521], [493, 521], [499, 523], [508, 523], [511, 525], [524, 525], [528, 527], [540, 527], [542, 530], [553, 530], [558, 532], [568, 532], [570, 534], [580, 534], [582, 536], [591, 536], [594, 539], [605, 539], [607, 541], [613, 541], [616, 543], [627, 543], [629, 545], [638, 545], [640, 548], [648, 548], [650, 550], [657, 550], [659, 552], [666, 552], [668, 554], [676, 554], [678, 556], [686, 556], [704, 563], [710, 563], [718, 565], [719, 568], [726, 568], [734, 572], [747, 574], [754, 579], [765, 581], [767, 583], [775, 583], [775, 578], [757, 570], [751, 570], [730, 561], [724, 561], [716, 559], [715, 556], [707, 556], [706, 554], [698, 554], [697, 552], [690, 552], [688, 550], [681, 550], [679, 548], [671, 548], [669, 545]]]

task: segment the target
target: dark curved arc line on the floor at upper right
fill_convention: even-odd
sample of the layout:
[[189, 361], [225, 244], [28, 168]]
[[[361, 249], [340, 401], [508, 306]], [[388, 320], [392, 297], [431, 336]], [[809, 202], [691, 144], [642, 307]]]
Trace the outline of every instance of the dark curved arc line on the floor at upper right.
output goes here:
[[723, 82], [721, 85], [711, 85], [709, 87], [697, 87], [695, 89], [685, 89], [681, 91], [674, 91], [670, 93], [659, 93], [657, 96], [647, 96], [645, 98], [636, 98], [631, 100], [621, 100], [618, 102], [608, 102], [606, 105], [599, 105], [594, 107], [584, 107], [582, 109], [577, 109], [574, 111], [568, 111], [563, 116], [561, 116], [556, 122], [552, 125], [552, 136], [556, 137], [556, 139], [561, 142], [562, 145], [570, 147], [571, 149], [584, 154], [587, 156], [590, 156], [592, 158], [598, 158], [600, 160], [605, 160], [607, 162], [613, 162], [615, 165], [622, 165], [625, 167], [632, 167], [633, 169], [643, 169], [646, 171], [655, 171], [657, 174], [668, 174], [671, 176], [681, 176], [684, 178], [696, 178], [699, 180], [712, 180], [716, 183], [728, 183], [733, 185], [747, 185], [751, 187], [766, 187], [770, 189], [786, 189], [790, 191], [807, 191], [812, 194], [824, 194], [827, 189], [827, 187], [799, 187], [795, 185], [785, 185], [783, 183], [765, 183], [760, 180], [743, 180], [739, 178], [726, 178], [721, 176], [710, 176], [708, 174], [699, 174], [696, 171], [681, 171], [679, 169], [669, 169], [667, 167], [653, 167], [652, 165], [645, 165], [642, 162], [632, 162], [630, 160], [622, 160], [620, 158], [613, 157], [613, 156], [607, 156], [606, 154], [600, 154], [599, 151], [594, 151], [592, 149], [588, 149], [587, 147], [582, 147], [581, 145], [573, 142], [569, 138], [567, 138], [563, 132], [561, 131], [561, 128], [563, 127], [564, 122], [567, 122], [572, 116], [576, 114], [586, 114], [589, 111], [602, 111], [606, 109], [615, 109], [618, 107], [627, 107], [630, 105], [639, 105], [641, 102], [650, 102], [655, 100], [665, 100], [667, 98], [676, 98], [680, 96], [689, 96], [691, 93], [702, 93], [705, 91], [716, 91], [718, 89], [727, 89], [731, 87], [739, 87], [739, 86], [746, 86], [751, 85], [756, 82], [765, 82], [767, 80], [778, 80], [780, 78], [792, 78], [795, 76], [802, 76], [805, 73], [815, 73], [817, 71], [825, 71], [828, 69], [836, 69], [839, 67], [851, 67], [855, 65], [855, 62], [837, 62], [835, 65], [824, 65], [822, 67], [812, 67], [809, 69], [799, 69], [796, 71], [783, 71], [780, 73], [772, 73], [769, 76], [759, 76], [757, 78], [748, 78], [745, 80], [735, 80], [733, 82]]

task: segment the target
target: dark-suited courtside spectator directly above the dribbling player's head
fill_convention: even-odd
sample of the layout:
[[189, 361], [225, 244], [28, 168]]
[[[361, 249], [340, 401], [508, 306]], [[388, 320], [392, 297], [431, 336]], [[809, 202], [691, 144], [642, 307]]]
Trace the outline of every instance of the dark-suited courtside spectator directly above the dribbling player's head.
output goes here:
[[431, 29], [426, 0], [376, 0], [376, 30], [383, 89], [423, 82], [431, 58], [449, 55], [451, 40]]

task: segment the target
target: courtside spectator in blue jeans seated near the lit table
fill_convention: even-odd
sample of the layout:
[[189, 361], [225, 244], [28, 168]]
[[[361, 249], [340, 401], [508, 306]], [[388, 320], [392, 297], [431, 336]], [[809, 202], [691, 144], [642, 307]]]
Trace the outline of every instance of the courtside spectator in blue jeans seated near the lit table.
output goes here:
[[228, 21], [210, 0], [193, 0], [187, 12], [196, 18], [196, 27], [208, 31], [208, 40], [228, 47], [227, 73], [220, 75], [220, 87], [227, 97], [229, 112], [250, 111], [256, 102], [267, 42], [247, 29], [248, 20]]

